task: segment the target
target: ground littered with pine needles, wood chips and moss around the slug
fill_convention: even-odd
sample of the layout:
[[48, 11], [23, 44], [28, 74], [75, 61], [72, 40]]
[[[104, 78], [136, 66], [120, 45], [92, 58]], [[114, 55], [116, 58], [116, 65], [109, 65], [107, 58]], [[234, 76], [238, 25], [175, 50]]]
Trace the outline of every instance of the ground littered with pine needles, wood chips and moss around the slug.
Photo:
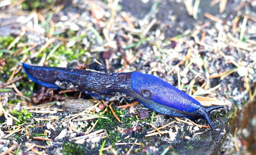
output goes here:
[[[255, 0], [2, 0], [0, 155], [255, 154], [255, 34]], [[42, 87], [22, 62], [153, 74], [225, 108], [213, 132], [122, 94]]]

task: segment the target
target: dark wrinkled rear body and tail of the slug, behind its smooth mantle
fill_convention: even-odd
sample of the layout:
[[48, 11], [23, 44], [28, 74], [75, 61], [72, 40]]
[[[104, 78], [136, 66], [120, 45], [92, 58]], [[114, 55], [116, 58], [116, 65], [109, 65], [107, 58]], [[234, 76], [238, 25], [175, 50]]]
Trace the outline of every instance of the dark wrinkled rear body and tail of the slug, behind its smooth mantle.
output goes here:
[[96, 98], [132, 91], [131, 72], [107, 74], [92, 70], [22, 64], [29, 79], [45, 87], [80, 90]]

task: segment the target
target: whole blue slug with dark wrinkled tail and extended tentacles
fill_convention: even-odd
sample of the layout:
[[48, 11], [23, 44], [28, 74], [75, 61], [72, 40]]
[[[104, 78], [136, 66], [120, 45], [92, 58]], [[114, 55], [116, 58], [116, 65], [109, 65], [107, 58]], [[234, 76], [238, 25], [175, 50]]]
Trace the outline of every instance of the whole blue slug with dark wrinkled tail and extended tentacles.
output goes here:
[[160, 114], [204, 119], [213, 131], [209, 113], [223, 107], [203, 107], [173, 85], [156, 76], [140, 72], [108, 74], [93, 70], [32, 66], [26, 63], [23, 63], [23, 68], [29, 79], [45, 87], [76, 89], [97, 98], [117, 92], [124, 93]]

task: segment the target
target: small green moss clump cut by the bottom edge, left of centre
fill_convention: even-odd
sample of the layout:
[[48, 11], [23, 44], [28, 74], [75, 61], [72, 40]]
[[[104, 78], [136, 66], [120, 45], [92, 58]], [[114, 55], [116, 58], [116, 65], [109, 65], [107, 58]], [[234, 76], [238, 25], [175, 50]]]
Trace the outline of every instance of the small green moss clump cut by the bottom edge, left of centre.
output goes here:
[[85, 149], [81, 144], [75, 144], [74, 142], [66, 142], [62, 145], [63, 155], [82, 155], [86, 154]]

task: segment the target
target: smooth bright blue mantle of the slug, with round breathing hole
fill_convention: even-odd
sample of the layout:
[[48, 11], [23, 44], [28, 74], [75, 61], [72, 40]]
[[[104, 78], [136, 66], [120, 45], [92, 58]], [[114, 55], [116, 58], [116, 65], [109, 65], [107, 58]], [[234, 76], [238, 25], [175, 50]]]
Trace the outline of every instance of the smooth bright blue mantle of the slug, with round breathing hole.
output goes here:
[[131, 78], [132, 89], [148, 102], [186, 112], [195, 111], [201, 106], [197, 100], [156, 76], [133, 72]]

